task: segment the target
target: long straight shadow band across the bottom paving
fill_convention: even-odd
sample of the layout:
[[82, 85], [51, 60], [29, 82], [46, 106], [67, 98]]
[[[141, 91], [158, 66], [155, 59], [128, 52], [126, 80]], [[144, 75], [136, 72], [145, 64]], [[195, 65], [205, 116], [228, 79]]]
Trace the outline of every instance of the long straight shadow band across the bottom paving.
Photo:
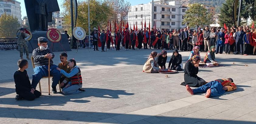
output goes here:
[[[236, 123], [236, 124], [255, 124], [255, 122], [249, 121], [236, 121], [236, 120], [224, 120], [224, 119], [202, 119], [202, 118], [189, 118], [189, 117], [179, 117], [177, 116], [150, 116], [150, 115], [137, 115], [137, 114], [123, 114], [120, 113], [105, 113], [105, 112], [77, 112], [77, 111], [63, 111], [63, 110], [44, 110], [44, 109], [28, 109], [28, 108], [2, 108], [0, 110], [5, 110], [5, 114], [0, 114], [1, 118], [18, 118], [18, 119], [44, 119], [44, 120], [60, 120], [60, 121], [77, 121], [77, 122], [95, 122], [100, 123], [134, 123], [141, 124], [147, 120], [147, 122], [152, 123], [163, 123], [171, 121], [172, 123], [195, 123], [195, 122], [211, 122], [211, 123]], [[19, 112], [26, 112], [27, 114], [19, 115]], [[30, 114], [29, 114], [30, 113]], [[112, 119], [112, 118], [114, 119]], [[112, 121], [111, 121], [112, 120]], [[116, 121], [118, 120], [118, 121]], [[8, 120], [7, 120], [8, 121]], [[31, 120], [35, 121], [35, 120]], [[2, 122], [4, 122], [2, 120]], [[170, 122], [170, 123], [171, 123]], [[21, 122], [22, 123], [22, 122]], [[70, 122], [72, 123], [72, 122]]]

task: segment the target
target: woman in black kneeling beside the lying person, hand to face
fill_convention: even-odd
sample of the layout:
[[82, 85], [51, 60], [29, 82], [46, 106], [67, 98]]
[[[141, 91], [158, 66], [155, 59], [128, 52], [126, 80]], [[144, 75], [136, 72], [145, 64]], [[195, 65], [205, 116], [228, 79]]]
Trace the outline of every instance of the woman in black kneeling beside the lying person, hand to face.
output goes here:
[[181, 85], [190, 87], [200, 87], [206, 84], [206, 81], [202, 78], [199, 78], [196, 74], [198, 73], [200, 57], [198, 55], [193, 56], [189, 59], [184, 68], [184, 80]]

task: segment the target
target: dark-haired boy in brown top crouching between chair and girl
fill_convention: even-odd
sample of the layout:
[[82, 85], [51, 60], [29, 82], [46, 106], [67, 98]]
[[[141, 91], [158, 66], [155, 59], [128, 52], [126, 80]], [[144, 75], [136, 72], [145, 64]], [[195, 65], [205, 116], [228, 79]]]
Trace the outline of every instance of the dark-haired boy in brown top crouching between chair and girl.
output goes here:
[[[60, 59], [61, 59], [61, 63], [59, 63], [58, 67], [64, 70], [65, 72], [70, 73], [71, 68], [68, 67], [67, 53], [61, 53]], [[65, 75], [62, 74], [60, 79], [61, 89], [63, 89], [67, 85], [67, 82], [69, 81], [70, 81], [70, 78], [67, 78]]]

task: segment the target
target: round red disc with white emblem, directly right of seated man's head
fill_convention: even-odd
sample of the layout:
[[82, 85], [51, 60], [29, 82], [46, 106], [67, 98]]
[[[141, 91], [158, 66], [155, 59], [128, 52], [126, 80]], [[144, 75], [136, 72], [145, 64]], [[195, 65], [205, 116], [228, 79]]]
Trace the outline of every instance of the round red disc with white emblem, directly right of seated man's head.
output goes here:
[[61, 40], [61, 33], [57, 29], [49, 29], [47, 31], [47, 38], [51, 42], [59, 42]]

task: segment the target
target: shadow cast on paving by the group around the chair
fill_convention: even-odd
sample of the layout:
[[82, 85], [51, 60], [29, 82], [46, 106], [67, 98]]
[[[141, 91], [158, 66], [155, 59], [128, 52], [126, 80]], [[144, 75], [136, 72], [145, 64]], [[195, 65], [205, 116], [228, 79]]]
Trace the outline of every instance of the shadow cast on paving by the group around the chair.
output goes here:
[[[12, 89], [12, 88], [10, 88]], [[15, 92], [15, 91], [14, 91]], [[6, 92], [10, 94], [13, 92]], [[60, 105], [63, 106], [67, 102], [87, 103], [88, 100], [80, 100], [87, 97], [99, 97], [99, 98], [120, 98], [119, 95], [134, 95], [134, 93], [127, 93], [124, 90], [111, 90], [101, 88], [85, 88], [85, 92], [71, 95], [42, 95], [40, 98], [36, 98], [34, 101], [19, 100], [16, 101], [13, 98], [0, 98], [0, 104], [5, 105], [19, 105], [19, 106], [51, 106]], [[72, 99], [72, 100], [71, 100]], [[73, 100], [75, 99], [75, 100]]]

